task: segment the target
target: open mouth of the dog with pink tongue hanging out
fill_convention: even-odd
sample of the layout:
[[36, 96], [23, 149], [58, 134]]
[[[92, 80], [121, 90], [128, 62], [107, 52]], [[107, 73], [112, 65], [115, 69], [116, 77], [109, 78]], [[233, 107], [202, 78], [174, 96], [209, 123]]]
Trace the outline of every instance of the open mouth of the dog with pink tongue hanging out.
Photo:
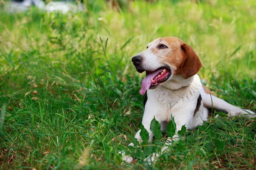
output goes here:
[[161, 82], [165, 82], [171, 76], [169, 67], [160, 67], [155, 71], [146, 71], [146, 77], [141, 82], [140, 94], [145, 94], [149, 88], [156, 88]]

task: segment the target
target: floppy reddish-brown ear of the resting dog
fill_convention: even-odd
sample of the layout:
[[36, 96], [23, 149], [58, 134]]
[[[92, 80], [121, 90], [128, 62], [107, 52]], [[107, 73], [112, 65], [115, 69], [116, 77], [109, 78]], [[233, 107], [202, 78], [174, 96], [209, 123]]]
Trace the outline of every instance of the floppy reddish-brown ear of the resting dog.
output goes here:
[[184, 60], [181, 66], [181, 75], [184, 79], [194, 76], [202, 68], [202, 63], [199, 57], [195, 54], [192, 47], [189, 45], [181, 45], [181, 49], [184, 52]]

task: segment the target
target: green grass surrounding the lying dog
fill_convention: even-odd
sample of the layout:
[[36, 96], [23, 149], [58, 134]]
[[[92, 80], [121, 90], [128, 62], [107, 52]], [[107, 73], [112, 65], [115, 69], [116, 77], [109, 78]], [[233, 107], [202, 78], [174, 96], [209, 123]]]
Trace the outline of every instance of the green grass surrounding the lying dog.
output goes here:
[[[143, 116], [144, 75], [131, 57], [157, 37], [191, 45], [206, 86], [256, 111], [254, 0], [85, 4], [66, 15], [0, 10], [0, 169], [143, 169], [141, 159], [121, 165], [118, 152]], [[255, 129], [256, 119], [211, 118], [151, 168], [255, 169]]]

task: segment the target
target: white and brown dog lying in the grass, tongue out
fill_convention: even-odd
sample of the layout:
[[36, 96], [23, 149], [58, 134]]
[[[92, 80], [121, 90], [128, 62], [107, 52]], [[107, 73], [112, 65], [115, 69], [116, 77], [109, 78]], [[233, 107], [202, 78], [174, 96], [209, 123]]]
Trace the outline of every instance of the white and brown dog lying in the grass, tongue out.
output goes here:
[[[166, 130], [173, 118], [179, 131], [183, 125], [187, 130], [203, 125], [208, 118], [207, 108], [224, 110], [228, 116], [255, 116], [254, 112], [230, 105], [204, 90], [197, 75], [202, 63], [192, 47], [179, 38], [153, 40], [145, 51], [132, 58], [132, 62], [139, 73], [146, 73], [140, 94], [145, 95], [142, 124], [149, 133], [149, 142], [153, 139], [150, 123], [154, 118], [160, 123], [161, 130]], [[177, 137], [176, 134], [172, 139], [168, 138], [162, 152]], [[140, 130], [135, 138], [139, 143], [143, 142]], [[134, 146], [133, 143], [129, 145]], [[133, 160], [124, 152], [119, 153], [122, 153], [123, 161], [131, 163]], [[154, 161], [158, 156], [158, 153], [152, 153], [145, 161]]]

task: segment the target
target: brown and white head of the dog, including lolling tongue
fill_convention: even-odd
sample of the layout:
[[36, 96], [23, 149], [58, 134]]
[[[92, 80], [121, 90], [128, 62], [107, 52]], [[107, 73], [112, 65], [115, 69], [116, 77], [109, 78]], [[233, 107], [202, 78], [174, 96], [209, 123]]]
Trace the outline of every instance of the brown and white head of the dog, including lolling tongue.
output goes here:
[[132, 62], [138, 72], [146, 71], [140, 94], [156, 88], [174, 75], [182, 75], [184, 79], [192, 77], [202, 67], [193, 49], [176, 37], [153, 40], [147, 50], [132, 58]]

